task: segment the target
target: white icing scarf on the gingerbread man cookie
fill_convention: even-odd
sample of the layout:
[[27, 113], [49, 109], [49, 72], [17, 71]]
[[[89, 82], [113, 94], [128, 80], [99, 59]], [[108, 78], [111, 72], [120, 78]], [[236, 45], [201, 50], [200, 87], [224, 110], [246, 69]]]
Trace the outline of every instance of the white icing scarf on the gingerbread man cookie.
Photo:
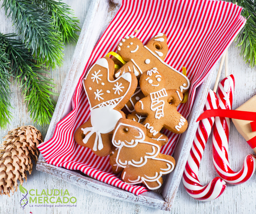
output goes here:
[[165, 88], [158, 90], [157, 92], [150, 93], [150, 109], [152, 111], [155, 111], [155, 118], [160, 119], [161, 117], [164, 117], [164, 104], [165, 102], [161, 100], [162, 97], [166, 97], [167, 92]]

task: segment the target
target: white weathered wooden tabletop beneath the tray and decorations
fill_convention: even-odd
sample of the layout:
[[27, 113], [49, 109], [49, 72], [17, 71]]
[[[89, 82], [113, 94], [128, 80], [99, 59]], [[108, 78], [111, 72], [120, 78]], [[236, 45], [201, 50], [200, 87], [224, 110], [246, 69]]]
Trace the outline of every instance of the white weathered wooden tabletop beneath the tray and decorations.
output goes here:
[[[91, 0], [92, 1], [92, 0]], [[86, 17], [87, 9], [90, 1], [84, 0], [65, 0], [67, 4], [75, 11], [76, 17], [81, 20], [80, 27]], [[10, 19], [6, 19], [4, 10], [0, 9], [0, 32], [6, 34], [14, 31]], [[75, 50], [75, 46], [68, 45], [65, 48], [65, 58], [61, 68], [50, 71], [51, 77], [57, 84], [57, 90], [60, 92], [65, 79], [66, 73], [70, 66], [71, 57]], [[233, 73], [236, 79], [235, 96], [233, 109], [244, 103], [256, 92], [256, 73], [255, 68], [251, 69], [245, 64], [239, 56], [239, 50], [235, 45], [231, 45], [229, 49], [229, 70]], [[217, 71], [214, 73], [216, 75]], [[223, 75], [221, 76], [223, 78]], [[29, 114], [26, 111], [26, 106], [22, 103], [22, 97], [19, 89], [12, 85], [12, 105], [13, 105], [13, 120], [6, 128], [0, 130], [2, 138], [8, 130], [20, 125], [33, 125]], [[55, 97], [57, 100], [58, 97]], [[43, 136], [46, 134], [47, 126], [39, 127]], [[239, 170], [242, 166], [243, 159], [246, 154], [252, 150], [246, 144], [245, 140], [239, 135], [233, 125], [231, 125], [230, 134], [230, 150], [229, 157], [231, 166], [235, 170]], [[210, 179], [217, 176], [214, 170], [211, 158], [211, 141], [206, 145], [206, 150], [202, 160], [199, 176], [203, 183], [209, 182]], [[174, 201], [172, 213], [248, 213], [255, 211], [256, 201], [254, 192], [256, 191], [255, 175], [245, 184], [237, 186], [227, 186], [227, 190], [212, 202], [199, 202], [192, 199], [181, 184]], [[110, 199], [106, 196], [101, 196], [82, 188], [79, 188], [70, 183], [64, 182], [61, 179], [47, 175], [43, 172], [35, 170], [28, 176], [28, 181], [23, 185], [27, 190], [33, 188], [42, 191], [43, 189], [67, 189], [70, 195], [77, 198], [76, 208], [29, 208], [24, 210], [19, 205], [21, 193], [15, 192], [10, 198], [0, 196], [0, 213], [165, 213], [165, 211], [156, 210], [142, 205], [127, 203], [116, 199]]]

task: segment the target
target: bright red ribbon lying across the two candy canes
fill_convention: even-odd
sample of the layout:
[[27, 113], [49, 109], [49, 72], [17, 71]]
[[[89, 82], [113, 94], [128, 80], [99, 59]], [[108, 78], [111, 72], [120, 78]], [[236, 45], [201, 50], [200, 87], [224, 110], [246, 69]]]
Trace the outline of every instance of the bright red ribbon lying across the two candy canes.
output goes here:
[[197, 121], [211, 117], [233, 118], [238, 120], [251, 120], [252, 131], [256, 131], [256, 112], [251, 111], [238, 111], [227, 109], [212, 109], [204, 111]]

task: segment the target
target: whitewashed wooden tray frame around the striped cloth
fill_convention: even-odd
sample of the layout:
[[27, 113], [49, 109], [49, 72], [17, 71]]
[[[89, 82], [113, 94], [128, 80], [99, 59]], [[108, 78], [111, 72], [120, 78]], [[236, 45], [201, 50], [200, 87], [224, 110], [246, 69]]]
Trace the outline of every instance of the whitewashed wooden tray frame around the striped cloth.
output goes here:
[[[121, 3], [118, 1], [115, 1], [115, 3], [109, 3], [108, 0], [92, 1], [44, 141], [48, 141], [53, 136], [57, 123], [71, 111], [71, 98], [74, 94], [78, 79], [82, 75], [85, 64], [89, 59], [95, 44], [101, 37], [102, 32], [107, 28], [109, 22], [114, 18], [120, 4]], [[163, 185], [162, 194], [150, 191], [137, 196], [117, 187], [86, 177], [82, 172], [67, 170], [65, 168], [47, 164], [42, 154], [39, 156], [36, 169], [85, 188], [85, 190], [112, 197], [114, 199], [138, 203], [162, 210], [171, 210], [175, 195], [179, 188], [183, 170], [185, 169], [190, 147], [196, 133], [198, 125], [196, 119], [203, 111], [211, 80], [212, 72], [210, 72], [210, 75], [205, 79], [201, 87], [197, 89], [193, 110], [188, 118], [189, 128], [180, 137], [178, 146], [173, 155], [177, 164], [173, 172], [167, 176]]]

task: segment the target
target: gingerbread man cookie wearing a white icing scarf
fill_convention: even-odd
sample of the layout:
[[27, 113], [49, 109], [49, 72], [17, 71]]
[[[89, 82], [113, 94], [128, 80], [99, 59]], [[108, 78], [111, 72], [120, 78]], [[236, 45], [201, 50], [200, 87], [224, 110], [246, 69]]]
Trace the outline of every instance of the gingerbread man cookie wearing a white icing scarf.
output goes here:
[[154, 137], [162, 128], [181, 134], [188, 126], [187, 120], [177, 111], [183, 98], [178, 89], [165, 88], [165, 78], [156, 68], [144, 72], [140, 77], [140, 87], [146, 96], [135, 105], [140, 116], [146, 116], [142, 122], [147, 135]]

